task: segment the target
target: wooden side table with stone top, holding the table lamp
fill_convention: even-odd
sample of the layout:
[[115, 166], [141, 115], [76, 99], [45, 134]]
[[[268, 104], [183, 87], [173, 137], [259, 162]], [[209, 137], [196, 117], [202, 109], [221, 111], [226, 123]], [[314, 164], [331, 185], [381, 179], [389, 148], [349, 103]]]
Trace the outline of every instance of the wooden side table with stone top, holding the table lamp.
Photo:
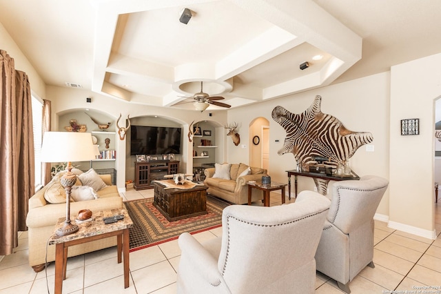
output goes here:
[[[103, 217], [114, 215], [124, 215], [124, 219], [112, 224], [104, 224]], [[78, 232], [61, 237], [54, 235], [49, 239], [49, 245], [56, 246], [55, 294], [61, 294], [62, 292], [63, 280], [66, 278], [69, 246], [114, 236], [116, 236], [118, 246], [118, 263], [120, 264], [122, 259], [124, 260], [124, 288], [129, 287], [129, 228], [133, 224], [132, 219], [130, 219], [127, 210], [122, 208], [99, 211], [99, 213], [95, 213], [92, 217], [94, 219], [90, 222], [77, 224], [80, 227]], [[64, 217], [59, 219], [55, 226], [55, 231], [63, 225], [64, 220]]]

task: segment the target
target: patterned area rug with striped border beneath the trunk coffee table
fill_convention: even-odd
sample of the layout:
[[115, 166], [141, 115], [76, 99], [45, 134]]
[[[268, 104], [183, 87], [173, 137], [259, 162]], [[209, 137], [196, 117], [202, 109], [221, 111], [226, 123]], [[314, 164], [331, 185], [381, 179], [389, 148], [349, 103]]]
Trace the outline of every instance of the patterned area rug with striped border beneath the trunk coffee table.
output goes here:
[[169, 222], [154, 207], [153, 198], [132, 200], [124, 204], [133, 221], [130, 228], [130, 252], [178, 239], [184, 232], [194, 234], [222, 226], [222, 210], [229, 205], [207, 195], [206, 215]]

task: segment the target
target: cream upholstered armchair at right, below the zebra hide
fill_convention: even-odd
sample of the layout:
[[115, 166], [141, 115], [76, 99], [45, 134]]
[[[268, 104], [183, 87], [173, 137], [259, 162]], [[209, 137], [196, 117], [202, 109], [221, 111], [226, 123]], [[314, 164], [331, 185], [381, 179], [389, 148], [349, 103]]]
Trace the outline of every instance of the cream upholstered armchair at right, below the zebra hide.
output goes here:
[[336, 182], [331, 207], [316, 253], [317, 271], [351, 293], [349, 282], [373, 267], [373, 215], [389, 182], [373, 175]]

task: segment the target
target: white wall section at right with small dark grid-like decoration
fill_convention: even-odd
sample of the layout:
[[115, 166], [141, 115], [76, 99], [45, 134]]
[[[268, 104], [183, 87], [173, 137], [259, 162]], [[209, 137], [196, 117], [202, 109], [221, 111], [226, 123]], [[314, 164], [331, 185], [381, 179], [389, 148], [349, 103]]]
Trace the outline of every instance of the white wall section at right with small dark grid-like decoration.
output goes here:
[[[389, 219], [394, 228], [427, 237], [435, 234], [433, 134], [440, 64], [438, 54], [391, 68]], [[420, 119], [420, 135], [400, 135], [400, 120], [413, 118]]]

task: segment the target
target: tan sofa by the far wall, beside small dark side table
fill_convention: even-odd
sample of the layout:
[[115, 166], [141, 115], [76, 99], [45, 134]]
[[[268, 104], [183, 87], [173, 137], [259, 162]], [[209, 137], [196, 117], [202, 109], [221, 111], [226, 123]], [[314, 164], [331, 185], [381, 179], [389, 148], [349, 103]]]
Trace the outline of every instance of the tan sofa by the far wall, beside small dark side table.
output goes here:
[[[227, 177], [225, 177], [225, 173], [218, 173], [219, 170], [224, 172], [228, 170]], [[241, 175], [247, 171], [248, 175]], [[262, 176], [267, 174], [267, 170], [249, 167], [246, 164], [216, 164], [214, 168], [206, 168], [204, 174], [204, 185], [208, 187], [207, 193], [234, 204], [247, 204], [247, 182], [260, 181]], [[262, 191], [252, 189], [252, 202], [261, 199], [263, 199]]]

